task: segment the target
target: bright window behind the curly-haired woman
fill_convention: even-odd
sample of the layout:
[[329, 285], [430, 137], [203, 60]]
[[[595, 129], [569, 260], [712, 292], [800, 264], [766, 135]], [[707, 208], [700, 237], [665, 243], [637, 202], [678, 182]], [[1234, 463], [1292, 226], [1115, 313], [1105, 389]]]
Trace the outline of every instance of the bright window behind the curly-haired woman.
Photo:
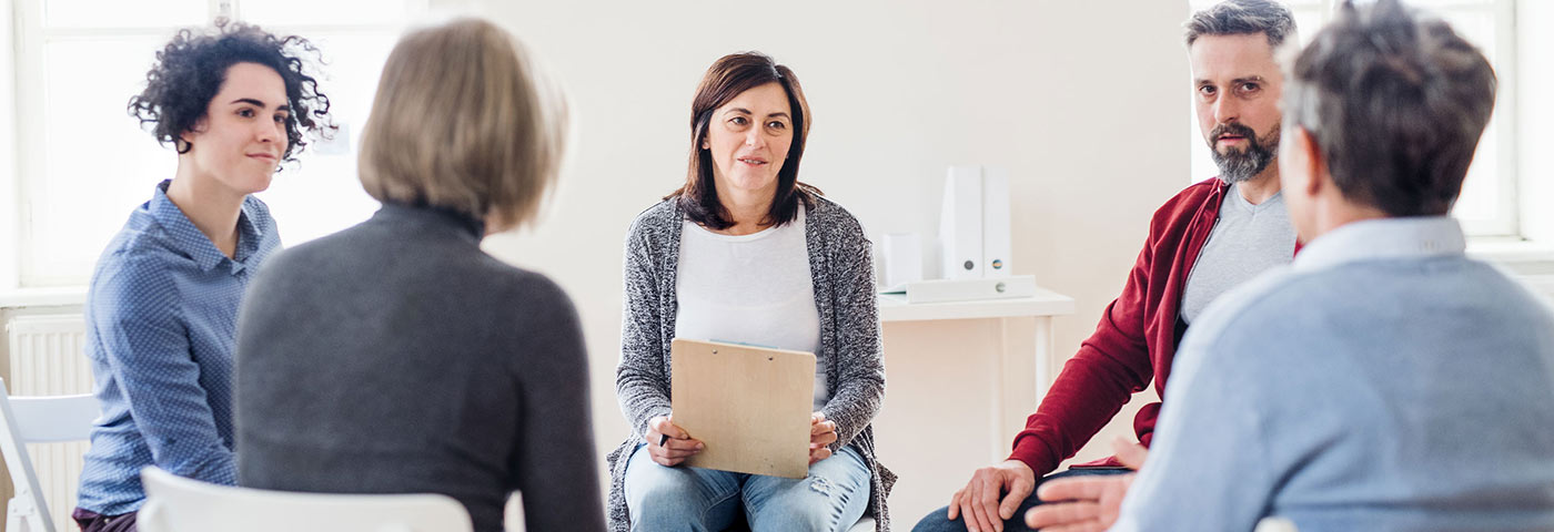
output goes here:
[[12, 217], [0, 223], [14, 234], [6, 250], [20, 250], [5, 254], [14, 264], [0, 267], [12, 271], [11, 287], [84, 285], [129, 212], [174, 175], [174, 150], [124, 109], [174, 31], [208, 26], [219, 16], [305, 36], [323, 54], [320, 90], [340, 130], [333, 141], [309, 141], [260, 194], [283, 242], [342, 230], [376, 209], [356, 180], [356, 133], [388, 51], [426, 0], [11, 2], [17, 157], [14, 180], [0, 175], [16, 195], [0, 209]]

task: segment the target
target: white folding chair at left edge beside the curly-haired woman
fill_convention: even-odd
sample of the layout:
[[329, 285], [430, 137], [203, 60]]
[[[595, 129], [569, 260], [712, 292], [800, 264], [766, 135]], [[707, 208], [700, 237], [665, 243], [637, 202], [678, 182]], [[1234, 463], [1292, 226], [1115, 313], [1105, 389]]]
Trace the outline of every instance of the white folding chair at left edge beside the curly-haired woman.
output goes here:
[[59, 530], [48, 515], [26, 444], [84, 440], [92, 436], [98, 411], [96, 397], [90, 394], [11, 397], [0, 378], [0, 454], [5, 454], [5, 467], [16, 485], [16, 496], [6, 506], [6, 532]]

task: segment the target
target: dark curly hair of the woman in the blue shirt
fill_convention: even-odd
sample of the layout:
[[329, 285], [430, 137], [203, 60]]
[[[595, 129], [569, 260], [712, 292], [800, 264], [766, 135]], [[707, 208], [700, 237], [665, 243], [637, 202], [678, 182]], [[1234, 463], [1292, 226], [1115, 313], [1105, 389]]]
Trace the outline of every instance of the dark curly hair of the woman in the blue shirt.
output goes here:
[[291, 113], [281, 160], [295, 161], [292, 155], [308, 146], [303, 130], [326, 136], [336, 129], [329, 119], [329, 96], [320, 93], [319, 81], [305, 71], [311, 67], [303, 54], [323, 64], [319, 48], [308, 39], [277, 37], [255, 25], [218, 19], [213, 33], [180, 29], [157, 51], [157, 64], [146, 73], [146, 90], [129, 98], [129, 116], [140, 119], [157, 141], [186, 154], [193, 144], [182, 135], [205, 118], [211, 98], [227, 81], [227, 68], [239, 62], [260, 64], [275, 70], [286, 85]]

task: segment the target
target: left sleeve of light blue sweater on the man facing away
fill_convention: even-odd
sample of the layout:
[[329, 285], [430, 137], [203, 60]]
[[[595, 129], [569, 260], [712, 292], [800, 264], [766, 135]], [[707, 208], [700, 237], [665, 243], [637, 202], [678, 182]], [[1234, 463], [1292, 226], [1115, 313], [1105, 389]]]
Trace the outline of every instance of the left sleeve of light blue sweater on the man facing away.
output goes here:
[[[1312, 427], [1301, 420], [1312, 409], [1277, 383], [1305, 382], [1312, 374], [1301, 368], [1322, 366], [1307, 357], [1310, 346], [1265, 321], [1287, 313], [1251, 309], [1259, 295], [1243, 285], [1215, 301], [1183, 338], [1148, 462], [1128, 487], [1113, 530], [1251, 530], [1291, 464], [1315, 459], [1312, 448], [1296, 445], [1291, 453], [1270, 445], [1302, 440], [1274, 437], [1280, 427]], [[1291, 389], [1315, 391], [1308, 385]], [[1280, 402], [1270, 397], [1298, 406], [1273, 406]]]

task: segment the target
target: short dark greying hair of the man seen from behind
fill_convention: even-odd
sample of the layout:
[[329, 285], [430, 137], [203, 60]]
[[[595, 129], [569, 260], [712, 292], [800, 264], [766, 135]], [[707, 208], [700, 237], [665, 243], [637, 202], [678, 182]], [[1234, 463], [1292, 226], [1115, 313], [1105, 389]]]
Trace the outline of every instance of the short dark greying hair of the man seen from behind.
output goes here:
[[1451, 209], [1495, 107], [1489, 59], [1397, 0], [1344, 2], [1285, 79], [1285, 126], [1312, 133], [1346, 199], [1389, 216]]

